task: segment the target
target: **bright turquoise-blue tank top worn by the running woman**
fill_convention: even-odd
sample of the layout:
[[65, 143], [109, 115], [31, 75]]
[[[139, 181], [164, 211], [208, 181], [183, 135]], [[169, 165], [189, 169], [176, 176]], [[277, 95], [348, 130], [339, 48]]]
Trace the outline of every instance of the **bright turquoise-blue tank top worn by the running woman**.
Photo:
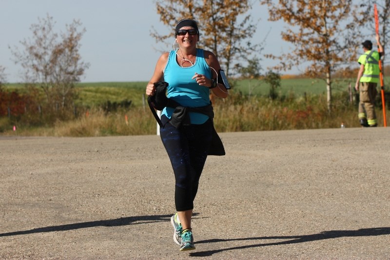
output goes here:
[[[204, 59], [203, 49], [196, 49], [194, 65], [184, 68], [177, 64], [176, 52], [172, 50], [164, 69], [164, 81], [169, 83], [167, 97], [187, 107], [200, 107], [210, 104], [210, 89], [200, 86], [195, 79], [192, 80], [195, 72], [211, 79], [211, 71]], [[165, 107], [161, 115], [165, 115], [170, 119], [174, 110], [174, 108]], [[209, 119], [204, 114], [196, 112], [190, 112], [189, 114], [192, 124], [202, 124]]]

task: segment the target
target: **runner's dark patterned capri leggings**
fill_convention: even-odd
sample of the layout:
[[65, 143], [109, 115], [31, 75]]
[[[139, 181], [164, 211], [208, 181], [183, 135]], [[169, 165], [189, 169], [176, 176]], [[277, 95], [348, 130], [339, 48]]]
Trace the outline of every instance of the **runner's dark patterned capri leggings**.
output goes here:
[[176, 129], [169, 122], [160, 128], [160, 137], [175, 173], [176, 211], [194, 208], [199, 178], [207, 159], [213, 123], [191, 124]]

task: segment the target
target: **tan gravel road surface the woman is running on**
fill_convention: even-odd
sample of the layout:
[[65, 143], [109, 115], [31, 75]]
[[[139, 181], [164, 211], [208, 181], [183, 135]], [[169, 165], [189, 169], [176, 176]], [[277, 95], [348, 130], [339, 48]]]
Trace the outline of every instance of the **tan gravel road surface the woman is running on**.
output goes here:
[[0, 137], [0, 259], [390, 259], [389, 134], [220, 133], [187, 252], [158, 136]]

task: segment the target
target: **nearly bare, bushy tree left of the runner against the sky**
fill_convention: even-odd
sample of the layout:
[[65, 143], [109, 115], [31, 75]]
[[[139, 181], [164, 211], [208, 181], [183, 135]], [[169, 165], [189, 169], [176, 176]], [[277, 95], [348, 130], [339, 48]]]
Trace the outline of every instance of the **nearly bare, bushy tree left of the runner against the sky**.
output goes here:
[[54, 31], [53, 17], [47, 15], [46, 19], [38, 20], [39, 23], [30, 27], [32, 39], [20, 41], [24, 51], [15, 47], [11, 52], [15, 63], [20, 63], [25, 70], [25, 82], [40, 86], [51, 107], [61, 104], [64, 109], [72, 104], [74, 85], [89, 67], [79, 55], [79, 42], [85, 28], [78, 31], [81, 23], [74, 20], [59, 36]]

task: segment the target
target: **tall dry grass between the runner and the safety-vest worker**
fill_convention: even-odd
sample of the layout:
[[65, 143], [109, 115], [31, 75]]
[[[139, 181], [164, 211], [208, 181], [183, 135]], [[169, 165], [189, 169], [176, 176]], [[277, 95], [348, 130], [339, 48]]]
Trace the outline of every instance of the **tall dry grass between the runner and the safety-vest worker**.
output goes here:
[[341, 122], [359, 126], [353, 104], [335, 101], [331, 115], [326, 97], [298, 100], [253, 99], [244, 103], [216, 102], [215, 127], [220, 132], [336, 128]]

